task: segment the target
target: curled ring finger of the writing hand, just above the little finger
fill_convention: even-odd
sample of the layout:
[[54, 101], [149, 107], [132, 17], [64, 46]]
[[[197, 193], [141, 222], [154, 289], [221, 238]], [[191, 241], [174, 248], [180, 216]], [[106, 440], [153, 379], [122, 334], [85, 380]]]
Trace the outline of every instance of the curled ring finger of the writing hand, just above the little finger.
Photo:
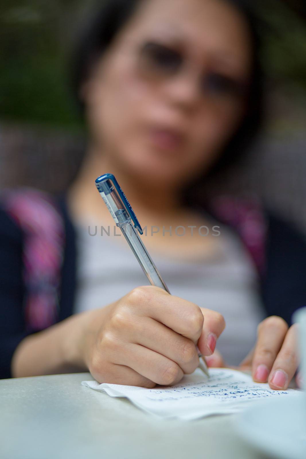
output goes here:
[[134, 343], [125, 343], [122, 346], [122, 343], [114, 342], [112, 345], [109, 344], [108, 349], [111, 346], [113, 363], [126, 365], [156, 384], [170, 386], [184, 376], [183, 370], [176, 362], [147, 347]]

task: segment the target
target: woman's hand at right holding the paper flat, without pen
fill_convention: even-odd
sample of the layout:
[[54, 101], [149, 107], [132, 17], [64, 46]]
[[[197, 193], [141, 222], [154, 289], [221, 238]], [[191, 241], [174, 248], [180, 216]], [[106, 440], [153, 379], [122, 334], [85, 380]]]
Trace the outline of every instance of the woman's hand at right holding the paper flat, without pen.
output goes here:
[[[289, 328], [278, 316], [264, 319], [257, 327], [257, 341], [238, 369], [251, 370], [253, 380], [268, 382], [271, 389], [287, 389], [298, 367], [296, 325]], [[206, 357], [208, 366], [225, 366], [217, 351]], [[300, 385], [299, 375], [296, 382]]]

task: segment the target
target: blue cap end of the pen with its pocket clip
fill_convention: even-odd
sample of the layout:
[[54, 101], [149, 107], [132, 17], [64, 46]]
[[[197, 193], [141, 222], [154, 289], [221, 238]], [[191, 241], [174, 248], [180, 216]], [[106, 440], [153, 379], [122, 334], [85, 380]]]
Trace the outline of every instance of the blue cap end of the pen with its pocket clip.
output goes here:
[[100, 177], [95, 180], [95, 186], [103, 201], [106, 203], [106, 207], [110, 211], [117, 226], [126, 224], [128, 219], [131, 218], [134, 223], [134, 227], [140, 234], [143, 234], [138, 218], [136, 217], [131, 204], [128, 202], [127, 197], [123, 193], [114, 175], [100, 175]]

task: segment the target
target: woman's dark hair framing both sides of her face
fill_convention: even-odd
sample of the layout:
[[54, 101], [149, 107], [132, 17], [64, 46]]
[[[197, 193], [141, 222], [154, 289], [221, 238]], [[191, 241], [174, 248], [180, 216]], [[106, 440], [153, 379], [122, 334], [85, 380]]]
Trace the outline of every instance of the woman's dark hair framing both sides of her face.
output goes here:
[[[103, 5], [94, 13], [83, 29], [73, 53], [72, 86], [78, 104], [83, 109], [79, 98], [79, 89], [89, 77], [90, 69], [96, 60], [103, 55], [119, 30], [133, 16], [140, 3], [146, 0], [104, 0]], [[257, 134], [262, 118], [262, 71], [259, 60], [260, 40], [256, 30], [256, 17], [250, 11], [247, 0], [226, 0], [243, 14], [250, 30], [252, 62], [250, 90], [245, 117], [236, 132], [224, 148], [223, 153], [205, 173], [205, 180], [217, 172], [235, 164]], [[195, 187], [203, 182], [198, 179]]]

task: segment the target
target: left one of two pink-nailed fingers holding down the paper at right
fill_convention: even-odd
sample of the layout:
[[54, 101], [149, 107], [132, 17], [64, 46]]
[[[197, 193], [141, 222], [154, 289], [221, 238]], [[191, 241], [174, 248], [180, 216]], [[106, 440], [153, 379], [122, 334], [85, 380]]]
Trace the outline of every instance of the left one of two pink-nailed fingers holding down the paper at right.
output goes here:
[[274, 360], [283, 344], [288, 325], [278, 316], [264, 319], [257, 329], [257, 343], [252, 362], [252, 377], [256, 382], [267, 382]]

